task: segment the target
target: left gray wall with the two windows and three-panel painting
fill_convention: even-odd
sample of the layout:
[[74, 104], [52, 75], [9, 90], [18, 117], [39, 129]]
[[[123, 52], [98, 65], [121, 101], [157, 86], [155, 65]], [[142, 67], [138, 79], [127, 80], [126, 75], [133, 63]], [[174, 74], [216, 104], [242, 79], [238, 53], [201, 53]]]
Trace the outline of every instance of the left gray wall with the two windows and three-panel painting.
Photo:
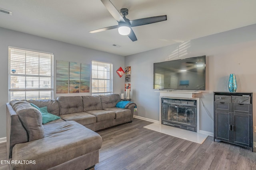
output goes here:
[[[119, 78], [116, 70], [121, 66], [124, 69], [124, 57], [96, 51], [60, 41], [54, 41], [34, 35], [11, 31], [0, 27], [0, 138], [6, 137], [6, 103], [8, 101], [8, 46], [32, 49], [54, 53], [54, 76], [56, 76], [56, 60], [73, 61], [91, 64], [92, 60], [113, 63], [113, 90], [114, 93], [124, 92], [124, 76]], [[88, 40], [84, 40], [88, 41]], [[54, 78], [54, 89], [56, 81]], [[90, 90], [91, 91], [91, 90]], [[91, 93], [58, 94], [58, 96], [90, 95]], [[57, 95], [54, 94], [54, 98]]]

